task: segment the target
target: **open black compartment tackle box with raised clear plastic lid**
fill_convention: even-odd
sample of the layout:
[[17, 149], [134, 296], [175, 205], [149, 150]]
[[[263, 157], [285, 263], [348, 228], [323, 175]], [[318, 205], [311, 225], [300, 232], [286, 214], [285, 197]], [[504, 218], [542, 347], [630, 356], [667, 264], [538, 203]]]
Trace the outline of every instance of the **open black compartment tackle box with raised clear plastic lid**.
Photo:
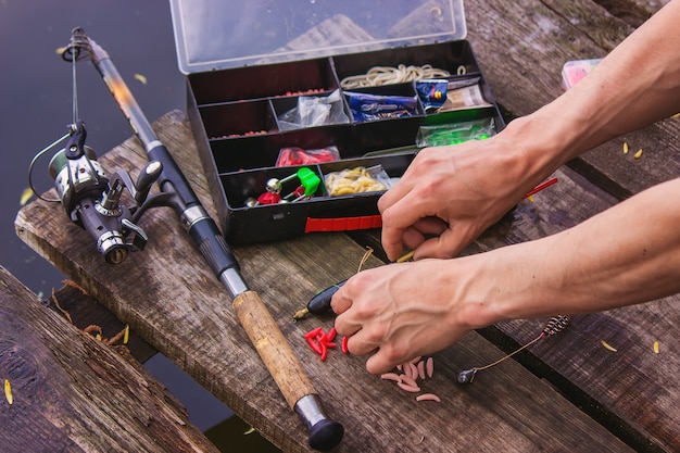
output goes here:
[[[424, 126], [482, 121], [491, 122], [493, 133], [504, 127], [464, 39], [462, 0], [172, 0], [171, 5], [179, 66], [187, 75], [188, 116], [230, 243], [379, 227], [383, 191], [331, 197], [324, 177], [379, 166], [399, 178], [419, 149]], [[431, 112], [413, 80], [341, 86], [372, 67], [400, 65], [445, 70], [450, 81], [474, 79], [488, 105]], [[412, 98], [415, 109], [404, 117], [358, 121], [349, 104], [355, 92]], [[331, 93], [340, 96], [336, 105], [344, 122], [288, 128], [281, 121], [301, 97]], [[335, 147], [340, 160], [304, 165], [320, 179], [311, 198], [254, 204], [272, 178], [292, 179], [282, 194], [295, 189], [300, 166], [276, 166], [280, 150], [293, 147]]]

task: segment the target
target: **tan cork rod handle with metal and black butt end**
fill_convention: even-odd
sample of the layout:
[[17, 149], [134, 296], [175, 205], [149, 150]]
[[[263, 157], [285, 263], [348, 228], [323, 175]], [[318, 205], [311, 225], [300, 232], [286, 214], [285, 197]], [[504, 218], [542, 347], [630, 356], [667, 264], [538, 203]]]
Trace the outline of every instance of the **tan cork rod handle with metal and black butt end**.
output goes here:
[[335, 448], [344, 428], [324, 414], [310, 377], [260, 295], [244, 291], [234, 299], [232, 306], [288, 405], [307, 424], [310, 446], [320, 451]]

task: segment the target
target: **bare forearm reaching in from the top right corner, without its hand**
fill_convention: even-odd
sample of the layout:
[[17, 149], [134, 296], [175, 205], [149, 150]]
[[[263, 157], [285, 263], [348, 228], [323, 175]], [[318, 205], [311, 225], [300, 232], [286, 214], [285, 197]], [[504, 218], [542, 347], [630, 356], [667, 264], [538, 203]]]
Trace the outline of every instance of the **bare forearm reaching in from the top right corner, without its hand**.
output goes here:
[[528, 173], [549, 174], [597, 144], [678, 113], [679, 23], [675, 0], [569, 91], [511, 123], [508, 135], [525, 144], [533, 165]]

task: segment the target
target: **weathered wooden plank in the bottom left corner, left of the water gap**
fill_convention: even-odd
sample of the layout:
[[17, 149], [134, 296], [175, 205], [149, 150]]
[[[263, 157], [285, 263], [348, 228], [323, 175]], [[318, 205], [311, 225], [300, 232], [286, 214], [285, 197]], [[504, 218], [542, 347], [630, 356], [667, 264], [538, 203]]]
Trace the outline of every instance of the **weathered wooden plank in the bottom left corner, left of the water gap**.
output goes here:
[[215, 452], [141, 366], [64, 322], [0, 267], [0, 450]]

